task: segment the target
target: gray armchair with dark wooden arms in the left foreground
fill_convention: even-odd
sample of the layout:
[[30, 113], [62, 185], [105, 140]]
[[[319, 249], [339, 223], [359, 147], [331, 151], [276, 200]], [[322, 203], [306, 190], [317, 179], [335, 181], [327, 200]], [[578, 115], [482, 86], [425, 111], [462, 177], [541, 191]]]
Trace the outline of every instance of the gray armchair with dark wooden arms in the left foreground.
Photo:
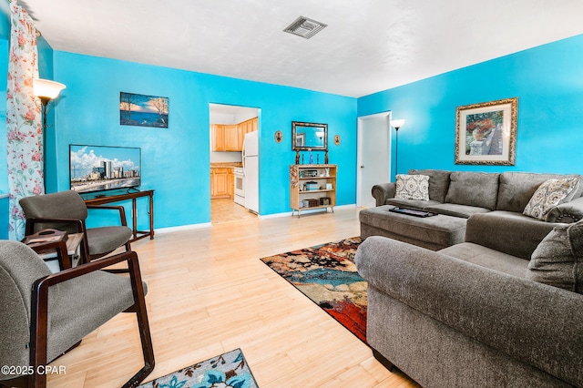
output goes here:
[[[103, 268], [127, 262], [129, 277]], [[125, 386], [136, 386], [154, 368], [138, 255], [124, 252], [51, 274], [25, 244], [0, 240], [0, 386], [46, 386], [43, 366], [121, 311], [134, 311], [144, 367]], [[29, 369], [26, 369], [29, 368]]]

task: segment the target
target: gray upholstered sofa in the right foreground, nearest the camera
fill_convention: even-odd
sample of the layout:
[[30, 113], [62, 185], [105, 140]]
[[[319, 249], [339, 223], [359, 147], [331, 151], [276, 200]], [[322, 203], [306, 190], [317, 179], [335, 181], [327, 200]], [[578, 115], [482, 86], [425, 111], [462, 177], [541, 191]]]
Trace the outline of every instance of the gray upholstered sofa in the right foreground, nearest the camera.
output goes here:
[[[356, 265], [368, 282], [375, 357], [425, 388], [583, 386], [583, 221], [569, 225], [557, 226], [564, 233], [554, 242], [570, 262], [548, 247], [553, 238], [517, 252], [504, 230], [483, 230], [473, 217], [467, 242], [437, 252], [363, 241]], [[539, 265], [548, 284], [520, 257], [531, 250], [539, 263], [560, 260], [562, 271]], [[569, 291], [550, 285], [568, 282]]]

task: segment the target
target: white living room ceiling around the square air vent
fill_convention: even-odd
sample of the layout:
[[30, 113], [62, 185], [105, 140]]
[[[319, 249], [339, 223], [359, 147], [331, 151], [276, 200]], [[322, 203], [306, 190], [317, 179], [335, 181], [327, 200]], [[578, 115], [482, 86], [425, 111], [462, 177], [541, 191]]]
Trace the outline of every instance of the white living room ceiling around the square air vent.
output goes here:
[[[362, 97], [583, 33], [581, 0], [20, 0], [56, 50]], [[328, 25], [283, 33], [303, 15]]]

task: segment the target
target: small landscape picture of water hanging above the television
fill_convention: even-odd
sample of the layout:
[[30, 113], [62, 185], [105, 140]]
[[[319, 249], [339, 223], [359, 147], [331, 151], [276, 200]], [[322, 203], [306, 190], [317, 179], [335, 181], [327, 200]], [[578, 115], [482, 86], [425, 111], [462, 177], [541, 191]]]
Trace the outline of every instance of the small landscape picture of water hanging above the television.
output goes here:
[[119, 93], [119, 124], [168, 128], [168, 97]]

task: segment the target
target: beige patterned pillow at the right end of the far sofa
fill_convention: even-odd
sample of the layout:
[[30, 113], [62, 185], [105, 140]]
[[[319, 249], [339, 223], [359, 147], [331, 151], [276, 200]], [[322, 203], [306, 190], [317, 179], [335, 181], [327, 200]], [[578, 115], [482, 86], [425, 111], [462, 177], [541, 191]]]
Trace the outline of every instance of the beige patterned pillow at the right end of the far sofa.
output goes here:
[[573, 199], [578, 186], [578, 178], [548, 179], [538, 186], [522, 213], [538, 220], [545, 220], [550, 209]]

